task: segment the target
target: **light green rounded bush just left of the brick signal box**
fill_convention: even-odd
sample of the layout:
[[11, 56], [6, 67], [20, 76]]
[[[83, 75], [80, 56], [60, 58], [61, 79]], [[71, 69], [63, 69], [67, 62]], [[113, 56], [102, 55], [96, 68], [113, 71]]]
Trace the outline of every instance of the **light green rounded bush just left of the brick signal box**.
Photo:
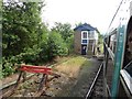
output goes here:
[[68, 54], [66, 43], [62, 38], [61, 34], [51, 32], [48, 36], [48, 59], [53, 59], [56, 56], [64, 56]]

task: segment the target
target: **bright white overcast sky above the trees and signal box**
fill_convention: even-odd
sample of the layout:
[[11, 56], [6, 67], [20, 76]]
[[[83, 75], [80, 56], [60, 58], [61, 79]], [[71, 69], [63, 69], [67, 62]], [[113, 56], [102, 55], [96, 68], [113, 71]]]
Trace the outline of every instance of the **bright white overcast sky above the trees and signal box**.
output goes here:
[[45, 0], [42, 20], [50, 28], [55, 22], [88, 23], [105, 34], [121, 0]]

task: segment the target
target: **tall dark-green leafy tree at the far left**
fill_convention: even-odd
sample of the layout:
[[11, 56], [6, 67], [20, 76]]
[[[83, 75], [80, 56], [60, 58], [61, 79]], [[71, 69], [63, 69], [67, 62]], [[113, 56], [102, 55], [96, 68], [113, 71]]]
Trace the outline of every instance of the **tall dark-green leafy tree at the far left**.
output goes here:
[[37, 42], [41, 8], [37, 2], [4, 2], [2, 4], [3, 56], [18, 55]]

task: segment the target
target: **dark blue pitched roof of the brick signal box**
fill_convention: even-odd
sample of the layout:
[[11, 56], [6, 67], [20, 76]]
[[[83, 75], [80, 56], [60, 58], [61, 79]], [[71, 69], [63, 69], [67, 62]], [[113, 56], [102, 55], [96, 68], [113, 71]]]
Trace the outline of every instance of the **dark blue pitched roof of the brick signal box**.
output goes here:
[[92, 28], [90, 24], [81, 24], [81, 25], [78, 25], [74, 29], [74, 31], [95, 31], [97, 30], [96, 28]]

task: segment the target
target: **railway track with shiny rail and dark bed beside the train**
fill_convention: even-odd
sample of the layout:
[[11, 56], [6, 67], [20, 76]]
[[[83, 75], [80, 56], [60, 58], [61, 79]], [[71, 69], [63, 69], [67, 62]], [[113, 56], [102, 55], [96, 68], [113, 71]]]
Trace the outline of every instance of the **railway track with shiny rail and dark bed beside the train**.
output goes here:
[[86, 95], [86, 99], [103, 98], [103, 65], [101, 64]]

